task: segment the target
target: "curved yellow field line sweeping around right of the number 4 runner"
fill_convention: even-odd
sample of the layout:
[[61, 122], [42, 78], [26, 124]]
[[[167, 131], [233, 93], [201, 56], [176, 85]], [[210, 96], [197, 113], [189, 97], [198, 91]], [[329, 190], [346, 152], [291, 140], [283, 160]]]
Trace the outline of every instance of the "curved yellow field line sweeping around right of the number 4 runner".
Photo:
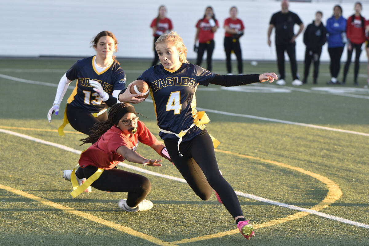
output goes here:
[[[274, 164], [274, 165], [281, 166], [281, 167], [286, 167], [286, 168], [289, 168], [289, 169], [292, 169], [292, 170], [299, 171], [300, 173], [307, 174], [307, 175], [321, 181], [322, 183], [324, 183], [328, 187], [328, 193], [325, 196], [323, 201], [321, 201], [320, 203], [318, 203], [314, 207], [310, 208], [310, 209], [313, 209], [315, 211], [319, 211], [323, 208], [328, 207], [330, 204], [337, 201], [342, 195], [341, 189], [339, 188], [339, 186], [336, 183], [334, 183], [334, 181], [332, 181], [332, 180], [330, 180], [330, 179], [328, 179], [324, 176], [321, 176], [320, 174], [313, 173], [311, 171], [307, 171], [307, 170], [302, 169], [300, 167], [294, 167], [294, 166], [290, 166], [288, 164], [284, 164], [284, 163], [281, 163], [281, 162], [276, 162], [276, 161], [273, 161], [273, 160], [267, 160], [267, 159], [263, 159], [263, 158], [260, 158], [260, 157], [242, 155], [242, 154], [238, 154], [238, 153], [227, 151], [227, 150], [215, 149], [215, 151], [225, 153], [225, 154], [229, 154], [229, 155], [244, 157], [244, 158], [248, 158], [248, 159], [258, 160], [260, 162], [266, 162], [266, 163]], [[298, 218], [301, 218], [301, 217], [306, 216], [308, 214], [309, 214], [308, 212], [296, 212], [292, 215], [288, 215], [288, 216], [283, 217], [283, 218], [273, 219], [271, 221], [267, 221], [267, 222], [264, 222], [262, 224], [256, 224], [256, 225], [253, 225], [253, 226], [254, 226], [254, 229], [260, 229], [260, 228], [264, 228], [264, 227], [267, 227], [267, 226], [272, 226], [272, 225], [282, 224], [282, 223], [287, 222], [287, 221], [292, 221], [293, 219], [298, 219]], [[197, 242], [197, 241], [207, 240], [207, 239], [212, 239], [212, 238], [220, 238], [220, 237], [223, 237], [223, 236], [232, 235], [232, 234], [236, 234], [236, 233], [239, 233], [238, 229], [234, 229], [234, 230], [227, 231], [227, 232], [218, 232], [218, 233], [215, 233], [215, 234], [199, 236], [199, 237], [196, 237], [196, 238], [182, 239], [182, 240], [174, 241], [172, 243], [177, 243], [177, 244], [179, 244], [179, 243], [191, 243], [191, 242]]]

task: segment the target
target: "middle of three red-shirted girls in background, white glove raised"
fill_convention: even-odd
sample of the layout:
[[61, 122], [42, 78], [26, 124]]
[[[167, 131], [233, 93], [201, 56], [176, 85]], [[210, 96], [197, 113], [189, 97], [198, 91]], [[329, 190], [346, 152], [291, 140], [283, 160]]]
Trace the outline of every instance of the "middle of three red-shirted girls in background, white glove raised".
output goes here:
[[[211, 59], [213, 56], [213, 51], [215, 47], [214, 43], [214, 32], [218, 30], [219, 24], [218, 20], [215, 19], [213, 8], [208, 6], [205, 10], [204, 17], [197, 21], [196, 23], [196, 35], [195, 35], [195, 45], [194, 51], [197, 52], [196, 65], [201, 66], [203, 61], [204, 51], [206, 49], [207, 53], [207, 70], [211, 71]], [[196, 45], [197, 40], [199, 40], [199, 46]]]

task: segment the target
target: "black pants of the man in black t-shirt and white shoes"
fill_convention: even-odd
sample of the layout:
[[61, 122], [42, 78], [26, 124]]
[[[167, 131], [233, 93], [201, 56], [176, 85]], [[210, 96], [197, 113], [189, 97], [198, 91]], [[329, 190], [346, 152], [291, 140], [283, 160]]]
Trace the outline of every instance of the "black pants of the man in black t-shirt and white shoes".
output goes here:
[[296, 63], [296, 43], [276, 45], [277, 63], [279, 71], [279, 79], [285, 78], [284, 73], [284, 51], [287, 51], [287, 55], [290, 59], [291, 73], [293, 80], [299, 79], [297, 76], [297, 63]]

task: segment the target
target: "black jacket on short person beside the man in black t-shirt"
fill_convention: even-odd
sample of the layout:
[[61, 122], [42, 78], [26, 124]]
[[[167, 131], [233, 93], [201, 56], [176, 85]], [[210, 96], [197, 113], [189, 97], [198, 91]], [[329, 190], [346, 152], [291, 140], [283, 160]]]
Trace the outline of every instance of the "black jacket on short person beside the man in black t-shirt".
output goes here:
[[306, 27], [304, 32], [304, 44], [306, 49], [309, 50], [321, 50], [322, 46], [327, 41], [327, 30], [321, 22], [319, 26], [313, 23]]

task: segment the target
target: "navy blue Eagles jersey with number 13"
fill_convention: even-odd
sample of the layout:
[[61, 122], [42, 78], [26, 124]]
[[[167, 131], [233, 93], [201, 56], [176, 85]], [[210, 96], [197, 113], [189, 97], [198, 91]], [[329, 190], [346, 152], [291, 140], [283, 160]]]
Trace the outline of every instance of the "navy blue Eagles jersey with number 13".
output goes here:
[[96, 80], [101, 84], [103, 90], [109, 95], [113, 90], [123, 90], [125, 88], [125, 73], [118, 63], [113, 63], [102, 72], [97, 72], [94, 67], [96, 56], [77, 60], [66, 72], [69, 80], [77, 80], [76, 87], [68, 98], [68, 103], [78, 108], [83, 108], [89, 112], [100, 112], [108, 105], [99, 97], [89, 80]]

